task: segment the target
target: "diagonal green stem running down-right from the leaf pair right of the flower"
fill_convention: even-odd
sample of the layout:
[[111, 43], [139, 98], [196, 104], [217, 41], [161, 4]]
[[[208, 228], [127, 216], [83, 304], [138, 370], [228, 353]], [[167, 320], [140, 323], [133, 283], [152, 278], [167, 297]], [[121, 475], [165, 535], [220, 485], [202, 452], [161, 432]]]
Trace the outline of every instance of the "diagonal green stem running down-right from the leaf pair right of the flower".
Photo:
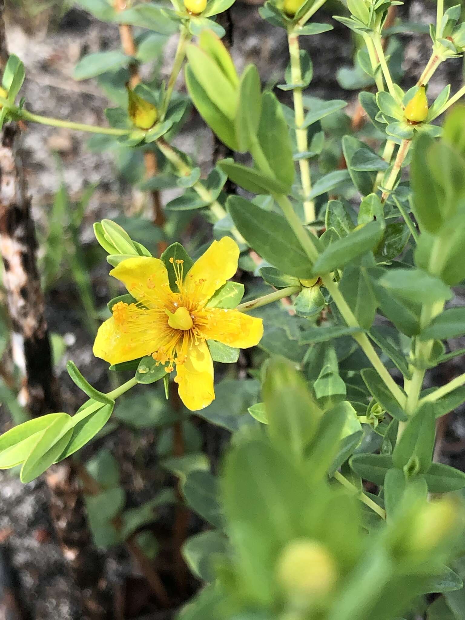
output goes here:
[[[323, 286], [325, 286], [325, 288], [327, 288], [327, 290], [329, 291], [334, 303], [339, 309], [339, 312], [342, 314], [342, 317], [344, 321], [347, 323], [347, 325], [349, 327], [360, 327], [347, 301], [345, 301], [345, 298], [340, 292], [340, 289], [337, 283], [332, 281], [332, 278], [330, 277], [330, 275], [326, 275], [322, 277], [322, 281], [323, 281]], [[379, 359], [378, 354], [374, 350], [374, 347], [371, 344], [370, 340], [368, 340], [368, 337], [366, 336], [366, 334], [353, 334], [352, 337], [354, 340], [356, 340], [356, 342], [360, 346], [363, 353], [365, 353], [365, 355], [368, 357], [368, 360], [370, 360], [371, 365], [373, 366], [374, 370], [376, 370], [376, 372], [379, 374], [379, 377], [383, 380], [384, 384], [389, 389], [392, 396], [394, 396], [394, 398], [399, 403], [399, 405], [401, 405], [401, 407], [404, 407], [405, 406], [404, 393], [402, 392], [401, 388], [397, 385], [396, 381], [392, 379], [386, 366], [384, 366], [383, 362]]]

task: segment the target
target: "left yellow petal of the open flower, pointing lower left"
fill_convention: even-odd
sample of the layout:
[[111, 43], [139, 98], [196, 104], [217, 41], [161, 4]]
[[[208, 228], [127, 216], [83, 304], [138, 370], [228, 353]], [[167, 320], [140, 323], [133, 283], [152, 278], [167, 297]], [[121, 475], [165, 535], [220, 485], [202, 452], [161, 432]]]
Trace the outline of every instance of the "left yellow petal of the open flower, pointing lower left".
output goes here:
[[160, 346], [158, 340], [154, 329], [144, 329], [140, 332], [125, 330], [125, 326], [117, 324], [112, 317], [100, 325], [93, 352], [95, 357], [100, 357], [110, 364], [120, 364], [122, 361], [137, 360], [144, 355], [151, 355]]

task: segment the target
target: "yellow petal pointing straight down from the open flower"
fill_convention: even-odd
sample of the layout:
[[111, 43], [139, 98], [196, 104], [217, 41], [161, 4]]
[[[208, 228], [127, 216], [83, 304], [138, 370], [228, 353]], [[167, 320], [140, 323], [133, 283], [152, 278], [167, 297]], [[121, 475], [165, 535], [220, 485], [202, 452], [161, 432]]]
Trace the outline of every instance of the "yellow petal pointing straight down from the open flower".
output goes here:
[[179, 384], [179, 396], [187, 409], [198, 411], [215, 399], [213, 389], [213, 361], [206, 342], [200, 342], [189, 350], [184, 364], [176, 365], [175, 382]]

